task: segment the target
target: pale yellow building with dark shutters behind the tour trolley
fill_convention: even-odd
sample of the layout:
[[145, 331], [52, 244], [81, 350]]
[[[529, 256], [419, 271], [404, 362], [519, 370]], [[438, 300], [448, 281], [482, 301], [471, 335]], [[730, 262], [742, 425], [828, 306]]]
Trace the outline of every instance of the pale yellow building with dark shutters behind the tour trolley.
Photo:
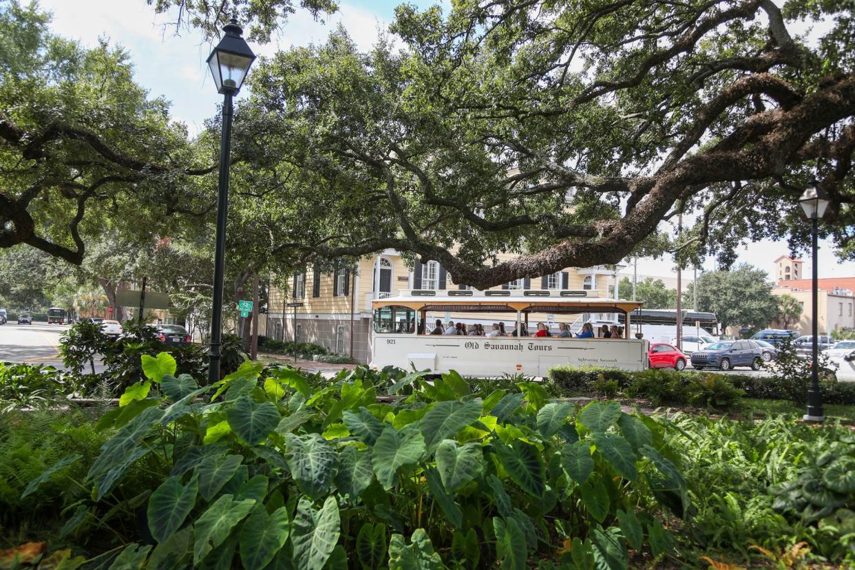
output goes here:
[[[615, 284], [615, 269], [598, 266], [568, 268], [539, 279], [518, 279], [495, 288], [586, 289], [605, 297]], [[320, 344], [335, 354], [351, 355], [358, 362], [369, 360], [373, 299], [392, 297], [407, 289], [463, 289], [438, 262], [416, 261], [416, 267], [410, 270], [395, 250], [363, 258], [355, 273], [346, 269], [321, 273], [309, 267], [306, 272], [293, 275], [288, 285], [287, 296], [279, 288], [270, 288], [268, 314], [259, 320], [259, 334], [291, 341], [296, 323], [298, 342]], [[295, 309], [287, 307], [287, 303], [303, 303], [296, 309], [296, 318]], [[485, 318], [492, 317], [485, 315]]]

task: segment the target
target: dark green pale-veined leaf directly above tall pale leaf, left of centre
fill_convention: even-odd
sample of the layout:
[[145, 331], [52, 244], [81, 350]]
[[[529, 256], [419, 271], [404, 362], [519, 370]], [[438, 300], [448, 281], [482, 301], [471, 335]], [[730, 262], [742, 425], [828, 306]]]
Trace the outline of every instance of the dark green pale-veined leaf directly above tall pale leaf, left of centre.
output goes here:
[[335, 451], [317, 433], [303, 438], [286, 433], [285, 439], [285, 461], [300, 491], [315, 499], [321, 497], [333, 481]]

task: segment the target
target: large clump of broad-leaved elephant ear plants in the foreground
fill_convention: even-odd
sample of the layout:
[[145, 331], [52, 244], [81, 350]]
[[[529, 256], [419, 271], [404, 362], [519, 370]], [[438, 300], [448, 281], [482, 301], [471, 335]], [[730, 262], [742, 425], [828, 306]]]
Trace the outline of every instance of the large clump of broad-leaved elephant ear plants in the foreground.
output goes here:
[[[662, 521], [689, 508], [657, 421], [534, 382], [471, 393], [411, 373], [379, 402], [364, 375], [320, 387], [247, 361], [198, 388], [167, 354], [143, 369], [100, 421], [115, 433], [66, 525], [135, 516], [101, 567], [626, 568], [670, 555]], [[63, 461], [50, 473], [79, 459]], [[128, 490], [141, 462], [151, 488]]]

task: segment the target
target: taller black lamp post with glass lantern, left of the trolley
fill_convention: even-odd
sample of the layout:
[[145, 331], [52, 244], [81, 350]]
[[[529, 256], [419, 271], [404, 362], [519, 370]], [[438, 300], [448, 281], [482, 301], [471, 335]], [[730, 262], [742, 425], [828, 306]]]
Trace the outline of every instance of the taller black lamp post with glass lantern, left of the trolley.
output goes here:
[[241, 34], [238, 22], [232, 20], [222, 28], [225, 35], [208, 56], [218, 93], [223, 96], [222, 138], [220, 141], [220, 183], [216, 203], [216, 246], [214, 253], [214, 308], [211, 314], [211, 348], [208, 382], [220, 379], [220, 339], [222, 333], [222, 279], [226, 270], [226, 219], [228, 214], [229, 150], [232, 146], [232, 97], [240, 91], [255, 54]]

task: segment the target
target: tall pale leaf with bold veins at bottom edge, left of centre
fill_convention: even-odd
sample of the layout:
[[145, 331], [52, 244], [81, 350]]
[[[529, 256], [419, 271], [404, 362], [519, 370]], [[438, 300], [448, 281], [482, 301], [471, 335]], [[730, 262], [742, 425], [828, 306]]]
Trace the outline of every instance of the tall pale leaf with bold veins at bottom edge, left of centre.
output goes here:
[[300, 498], [292, 531], [296, 567], [321, 570], [339, 542], [340, 524], [335, 497], [327, 497], [320, 510], [315, 510], [309, 499]]

